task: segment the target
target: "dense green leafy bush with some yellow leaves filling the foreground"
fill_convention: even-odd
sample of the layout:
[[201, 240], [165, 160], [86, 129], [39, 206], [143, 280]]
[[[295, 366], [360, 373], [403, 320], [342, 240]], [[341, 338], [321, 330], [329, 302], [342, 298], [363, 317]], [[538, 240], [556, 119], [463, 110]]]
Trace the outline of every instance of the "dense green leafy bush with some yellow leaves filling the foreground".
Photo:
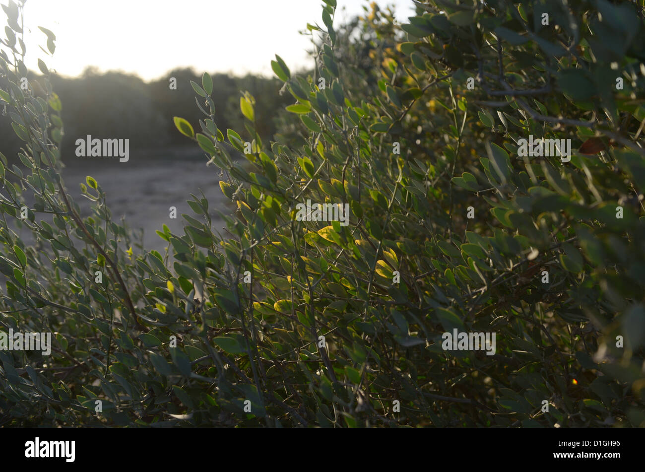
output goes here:
[[[295, 101], [279, 141], [250, 94], [250, 143], [218, 129], [208, 74], [197, 133], [175, 118], [238, 211], [219, 231], [192, 196], [163, 255], [128, 250], [91, 177], [79, 217], [61, 104], [3, 56], [24, 166], [3, 157], [0, 322], [55, 335], [49, 357], [0, 351], [1, 424], [645, 425], [642, 7], [435, 0], [335, 29], [325, 3], [315, 73], [272, 63]], [[571, 139], [570, 161], [518, 156], [531, 135]], [[308, 200], [348, 226], [300, 221]], [[495, 355], [442, 349], [455, 328], [496, 333]]]

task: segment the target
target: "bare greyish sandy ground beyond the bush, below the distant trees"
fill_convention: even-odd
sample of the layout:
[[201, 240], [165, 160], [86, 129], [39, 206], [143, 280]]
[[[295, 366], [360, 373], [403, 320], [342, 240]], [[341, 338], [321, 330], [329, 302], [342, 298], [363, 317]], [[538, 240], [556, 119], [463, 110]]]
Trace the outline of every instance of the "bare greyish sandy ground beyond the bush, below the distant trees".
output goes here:
[[[206, 166], [207, 159], [199, 148], [196, 153], [167, 149], [131, 152], [128, 162], [101, 157], [73, 159], [63, 169], [63, 181], [81, 206], [83, 216], [91, 214], [92, 202], [83, 197], [79, 184], [85, 182], [86, 175], [91, 175], [106, 193], [113, 221], [120, 222], [123, 215], [131, 228], [142, 228], [146, 249], [164, 250], [166, 241], [155, 233], [163, 224], [172, 233], [184, 235], [182, 213], [203, 221], [203, 216], [195, 215], [186, 203], [192, 199], [191, 193], [201, 198], [201, 190], [208, 199], [213, 230], [221, 230], [223, 226], [216, 210], [231, 213], [230, 207], [224, 203], [228, 199], [219, 188], [219, 169], [213, 165]], [[170, 219], [171, 206], [177, 208], [177, 219]]]

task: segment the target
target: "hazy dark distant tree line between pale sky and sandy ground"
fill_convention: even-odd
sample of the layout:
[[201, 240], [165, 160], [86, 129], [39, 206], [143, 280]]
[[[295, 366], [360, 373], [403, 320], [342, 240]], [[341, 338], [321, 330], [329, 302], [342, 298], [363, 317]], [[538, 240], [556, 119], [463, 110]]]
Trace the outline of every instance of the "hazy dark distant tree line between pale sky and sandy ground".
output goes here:
[[[171, 77], [177, 80], [176, 90], [170, 87]], [[277, 79], [256, 75], [213, 74], [212, 77], [217, 126], [223, 133], [226, 134], [228, 128], [244, 130], [239, 97], [248, 90], [254, 97], [262, 97], [255, 108], [257, 132], [263, 141], [272, 139], [276, 130], [273, 118], [293, 102], [290, 95], [279, 93], [282, 84]], [[29, 72], [27, 78], [30, 88], [37, 93], [41, 76]], [[93, 67], [87, 68], [80, 77], [54, 75], [52, 84], [63, 103], [63, 159], [74, 155], [76, 139], [86, 135], [129, 138], [134, 150], [189, 144], [177, 132], [172, 117], [185, 117], [199, 129], [201, 114], [195, 106], [195, 97], [202, 102], [204, 99], [195, 93], [190, 81], [201, 83], [201, 74], [192, 68], [172, 70], [149, 83], [137, 75], [123, 72], [101, 74]], [[10, 116], [0, 110], [0, 152], [15, 157], [19, 143], [19, 138], [12, 132]], [[70, 159], [64, 161], [71, 162]]]

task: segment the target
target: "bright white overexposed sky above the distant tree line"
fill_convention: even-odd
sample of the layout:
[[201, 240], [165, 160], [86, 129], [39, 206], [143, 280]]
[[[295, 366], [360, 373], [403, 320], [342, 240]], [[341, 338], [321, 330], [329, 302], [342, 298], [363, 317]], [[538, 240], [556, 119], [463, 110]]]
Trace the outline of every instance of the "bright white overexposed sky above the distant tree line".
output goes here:
[[[337, 0], [334, 23], [362, 14], [368, 3]], [[413, 14], [412, 0], [377, 3], [393, 5], [399, 21]], [[275, 54], [293, 70], [311, 62], [306, 56], [310, 38], [298, 32], [307, 23], [324, 28], [321, 5], [321, 0], [27, 0], [25, 62], [37, 70], [41, 57], [63, 75], [79, 75], [93, 65], [102, 72], [123, 70], [145, 80], [178, 66], [192, 66], [197, 72], [271, 75]], [[4, 25], [5, 12], [0, 10], [0, 26]], [[40, 50], [39, 46], [46, 49], [46, 37], [37, 26], [56, 35], [53, 58]]]

